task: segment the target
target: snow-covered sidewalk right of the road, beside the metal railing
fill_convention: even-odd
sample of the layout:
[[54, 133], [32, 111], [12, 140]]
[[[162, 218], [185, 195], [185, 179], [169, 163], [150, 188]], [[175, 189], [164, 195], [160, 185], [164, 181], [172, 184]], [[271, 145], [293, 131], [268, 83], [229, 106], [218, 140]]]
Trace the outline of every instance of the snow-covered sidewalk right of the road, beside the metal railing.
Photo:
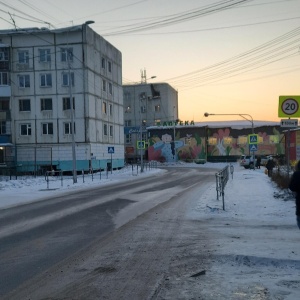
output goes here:
[[[190, 211], [191, 219], [205, 220], [213, 237], [212, 264], [198, 280], [201, 296], [205, 300], [297, 300], [300, 230], [295, 200], [277, 189], [264, 168], [234, 167], [225, 188], [225, 211], [222, 201], [216, 200], [215, 186]], [[196, 296], [195, 286], [192, 290]]]

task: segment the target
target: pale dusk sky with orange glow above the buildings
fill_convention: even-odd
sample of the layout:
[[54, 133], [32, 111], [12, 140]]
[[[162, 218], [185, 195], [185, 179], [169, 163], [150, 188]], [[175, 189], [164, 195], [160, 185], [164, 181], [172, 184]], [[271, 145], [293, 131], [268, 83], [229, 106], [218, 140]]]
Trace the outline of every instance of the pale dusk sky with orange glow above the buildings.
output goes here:
[[123, 83], [169, 83], [181, 120], [279, 121], [300, 95], [300, 0], [10, 0], [0, 28], [90, 27], [122, 52]]

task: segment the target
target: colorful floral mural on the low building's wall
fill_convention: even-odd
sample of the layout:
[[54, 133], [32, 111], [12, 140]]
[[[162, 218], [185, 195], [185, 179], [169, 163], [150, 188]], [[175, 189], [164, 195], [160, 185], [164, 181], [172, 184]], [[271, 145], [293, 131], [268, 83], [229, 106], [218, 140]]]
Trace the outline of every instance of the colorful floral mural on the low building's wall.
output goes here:
[[[278, 126], [279, 127], [279, 126]], [[256, 128], [259, 137], [257, 155], [284, 154], [284, 135], [276, 127]], [[149, 130], [148, 158], [161, 162], [191, 161], [211, 156], [250, 154], [249, 129], [189, 127]], [[207, 137], [207, 143], [206, 143]]]

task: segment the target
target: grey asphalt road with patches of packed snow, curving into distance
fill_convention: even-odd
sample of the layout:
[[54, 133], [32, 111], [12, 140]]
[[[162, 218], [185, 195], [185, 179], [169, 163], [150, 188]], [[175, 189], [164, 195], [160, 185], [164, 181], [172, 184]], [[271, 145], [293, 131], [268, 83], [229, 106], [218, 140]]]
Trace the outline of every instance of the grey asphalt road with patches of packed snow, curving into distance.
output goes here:
[[[159, 299], [195, 242], [186, 234], [186, 208], [215, 172], [169, 168], [0, 210], [0, 298]], [[189, 255], [187, 275], [201, 271], [209, 255], [204, 230], [199, 238], [202, 259], [195, 265]]]

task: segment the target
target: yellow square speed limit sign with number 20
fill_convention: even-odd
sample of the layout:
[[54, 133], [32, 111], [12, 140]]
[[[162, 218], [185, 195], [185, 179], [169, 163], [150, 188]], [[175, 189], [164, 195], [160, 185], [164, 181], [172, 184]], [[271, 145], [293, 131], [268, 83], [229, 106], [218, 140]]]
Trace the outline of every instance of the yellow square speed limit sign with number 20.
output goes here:
[[280, 96], [278, 117], [300, 117], [300, 96]]

